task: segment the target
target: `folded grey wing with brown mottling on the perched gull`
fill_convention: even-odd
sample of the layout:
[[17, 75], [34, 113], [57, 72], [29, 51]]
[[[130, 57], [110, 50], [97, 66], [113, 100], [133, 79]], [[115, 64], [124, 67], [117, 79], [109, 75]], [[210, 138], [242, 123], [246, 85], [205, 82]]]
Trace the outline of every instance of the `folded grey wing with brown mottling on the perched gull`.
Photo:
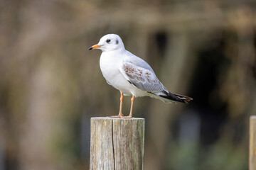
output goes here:
[[137, 88], [143, 91], [150, 93], [167, 91], [152, 69], [139, 67], [132, 62], [123, 62], [119, 70], [130, 84], [137, 86]]

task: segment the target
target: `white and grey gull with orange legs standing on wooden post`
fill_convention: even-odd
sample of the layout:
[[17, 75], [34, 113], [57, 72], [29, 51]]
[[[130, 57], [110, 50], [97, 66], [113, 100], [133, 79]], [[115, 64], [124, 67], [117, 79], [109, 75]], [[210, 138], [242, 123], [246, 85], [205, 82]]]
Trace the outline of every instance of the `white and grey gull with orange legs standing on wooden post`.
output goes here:
[[[119, 114], [111, 116], [112, 118], [132, 118], [135, 97], [150, 96], [165, 103], [188, 103], [193, 100], [188, 96], [169, 92], [147, 62], [125, 50], [119, 35], [104, 35], [97, 45], [92, 45], [88, 50], [94, 49], [102, 50], [100, 69], [107, 84], [119, 90], [121, 94]], [[124, 96], [132, 96], [128, 116], [122, 114]]]

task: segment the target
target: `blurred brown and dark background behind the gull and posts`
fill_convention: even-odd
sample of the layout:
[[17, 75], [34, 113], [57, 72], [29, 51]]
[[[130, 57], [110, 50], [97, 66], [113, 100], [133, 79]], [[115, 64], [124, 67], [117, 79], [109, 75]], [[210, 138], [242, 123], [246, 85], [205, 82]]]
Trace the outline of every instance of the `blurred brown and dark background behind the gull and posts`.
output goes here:
[[[144, 169], [243, 170], [256, 113], [256, 1], [0, 1], [0, 170], [89, 169], [90, 118], [117, 115], [107, 33], [189, 105], [136, 98]], [[130, 98], [124, 98], [129, 113]]]

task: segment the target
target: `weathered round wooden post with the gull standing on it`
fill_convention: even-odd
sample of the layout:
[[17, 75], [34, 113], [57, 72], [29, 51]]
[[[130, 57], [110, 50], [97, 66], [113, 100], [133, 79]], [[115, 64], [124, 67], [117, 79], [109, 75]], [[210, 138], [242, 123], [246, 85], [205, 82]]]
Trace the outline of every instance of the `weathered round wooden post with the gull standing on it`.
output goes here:
[[142, 170], [144, 118], [91, 118], [90, 170]]

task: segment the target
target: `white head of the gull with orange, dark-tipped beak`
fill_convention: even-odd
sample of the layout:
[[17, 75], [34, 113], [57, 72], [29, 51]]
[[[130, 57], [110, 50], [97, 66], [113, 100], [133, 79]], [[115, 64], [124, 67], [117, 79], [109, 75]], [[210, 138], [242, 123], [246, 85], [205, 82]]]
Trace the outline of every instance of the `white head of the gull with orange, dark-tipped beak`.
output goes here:
[[107, 34], [100, 38], [97, 45], [92, 45], [88, 50], [100, 49], [102, 52], [124, 49], [124, 43], [119, 35]]

